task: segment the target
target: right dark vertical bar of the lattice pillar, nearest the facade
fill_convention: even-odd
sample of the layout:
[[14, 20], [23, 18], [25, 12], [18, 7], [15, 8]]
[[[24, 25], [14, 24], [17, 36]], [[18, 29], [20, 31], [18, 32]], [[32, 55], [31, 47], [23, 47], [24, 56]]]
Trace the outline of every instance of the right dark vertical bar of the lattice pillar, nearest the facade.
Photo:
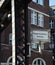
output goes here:
[[[28, 4], [25, 2], [25, 7], [24, 7], [24, 22], [25, 22], [25, 65], [29, 65], [28, 63]], [[28, 48], [28, 49], [27, 49]]]

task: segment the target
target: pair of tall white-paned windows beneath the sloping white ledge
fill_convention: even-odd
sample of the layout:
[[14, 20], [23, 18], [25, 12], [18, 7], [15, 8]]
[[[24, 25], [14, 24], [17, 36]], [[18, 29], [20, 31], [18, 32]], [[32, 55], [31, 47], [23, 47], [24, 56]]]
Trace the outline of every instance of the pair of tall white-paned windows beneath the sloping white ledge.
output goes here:
[[44, 26], [44, 16], [35, 11], [31, 11], [31, 24], [43, 27]]

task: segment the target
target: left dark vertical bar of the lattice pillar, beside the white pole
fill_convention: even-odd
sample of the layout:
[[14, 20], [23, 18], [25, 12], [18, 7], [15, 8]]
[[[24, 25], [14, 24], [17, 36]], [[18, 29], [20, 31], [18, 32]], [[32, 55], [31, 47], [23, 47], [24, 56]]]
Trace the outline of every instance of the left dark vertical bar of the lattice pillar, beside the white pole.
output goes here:
[[[19, 35], [19, 30], [20, 30], [20, 28], [19, 28], [20, 3], [18, 3], [18, 4], [17, 3], [18, 3], [18, 1], [15, 0], [15, 44], [16, 44], [15, 45], [15, 48], [16, 48], [16, 50], [15, 50], [15, 55], [16, 55], [15, 65], [17, 65], [17, 61], [19, 61], [19, 60], [17, 60], [17, 55], [19, 55], [19, 53], [20, 53], [20, 50], [17, 48], [17, 46], [19, 46], [18, 44], [19, 44], [19, 37], [20, 37], [20, 35]], [[17, 50], [19, 50], [19, 53], [17, 53]]]

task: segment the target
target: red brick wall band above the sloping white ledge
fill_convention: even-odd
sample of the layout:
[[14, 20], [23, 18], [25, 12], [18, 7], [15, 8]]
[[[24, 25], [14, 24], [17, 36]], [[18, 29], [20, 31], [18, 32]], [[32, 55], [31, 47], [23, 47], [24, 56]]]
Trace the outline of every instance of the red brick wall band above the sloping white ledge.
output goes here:
[[50, 8], [49, 8], [49, 0], [44, 0], [44, 5], [43, 6], [39, 5], [39, 4], [35, 3], [35, 2], [31, 2], [29, 4], [29, 7], [34, 8], [34, 9], [36, 9], [38, 11], [44, 12], [46, 14], [49, 14], [49, 10], [50, 10]]

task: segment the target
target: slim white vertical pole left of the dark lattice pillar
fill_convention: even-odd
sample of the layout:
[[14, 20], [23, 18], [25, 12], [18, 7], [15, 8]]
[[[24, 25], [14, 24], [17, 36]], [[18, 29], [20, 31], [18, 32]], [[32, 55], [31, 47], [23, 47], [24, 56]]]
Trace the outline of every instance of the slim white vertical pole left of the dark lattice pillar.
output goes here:
[[15, 53], [15, 0], [11, 0], [11, 13], [12, 13], [12, 65], [16, 65]]

